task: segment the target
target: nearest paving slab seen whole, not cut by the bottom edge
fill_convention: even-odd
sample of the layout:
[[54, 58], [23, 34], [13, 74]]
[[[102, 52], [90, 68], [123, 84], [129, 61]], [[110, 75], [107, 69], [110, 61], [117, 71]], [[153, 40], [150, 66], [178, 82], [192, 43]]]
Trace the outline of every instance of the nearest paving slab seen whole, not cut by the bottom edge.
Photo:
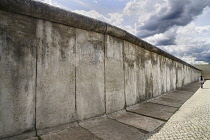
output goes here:
[[165, 123], [164, 121], [161, 120], [153, 119], [150, 117], [130, 112], [113, 114], [109, 117], [111, 117], [112, 119], [116, 119], [119, 122], [145, 130], [147, 132], [152, 132]]

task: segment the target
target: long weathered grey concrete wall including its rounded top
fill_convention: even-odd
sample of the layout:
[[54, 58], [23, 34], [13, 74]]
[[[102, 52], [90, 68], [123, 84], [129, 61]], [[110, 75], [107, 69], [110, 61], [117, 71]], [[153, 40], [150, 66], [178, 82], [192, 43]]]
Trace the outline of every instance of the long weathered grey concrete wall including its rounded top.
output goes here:
[[30, 0], [0, 1], [0, 139], [116, 112], [199, 76], [109, 24]]

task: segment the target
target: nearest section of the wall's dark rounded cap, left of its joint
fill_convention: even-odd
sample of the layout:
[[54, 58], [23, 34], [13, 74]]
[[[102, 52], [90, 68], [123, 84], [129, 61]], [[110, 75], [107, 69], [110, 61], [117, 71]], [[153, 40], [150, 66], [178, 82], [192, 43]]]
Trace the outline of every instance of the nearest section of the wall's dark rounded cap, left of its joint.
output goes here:
[[105, 32], [106, 23], [33, 0], [1, 0], [0, 9], [68, 26]]

